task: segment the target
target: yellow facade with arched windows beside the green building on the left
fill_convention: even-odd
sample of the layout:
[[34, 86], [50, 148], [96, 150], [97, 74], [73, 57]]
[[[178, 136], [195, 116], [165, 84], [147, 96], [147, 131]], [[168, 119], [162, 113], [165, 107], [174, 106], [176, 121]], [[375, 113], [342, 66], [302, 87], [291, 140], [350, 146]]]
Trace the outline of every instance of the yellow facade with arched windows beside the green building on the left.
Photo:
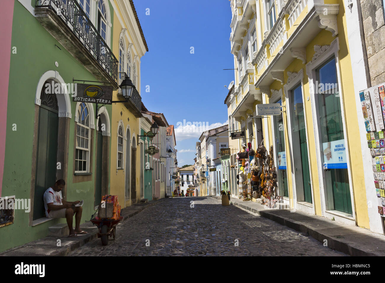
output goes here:
[[123, 208], [141, 200], [140, 60], [148, 48], [133, 2], [114, 0], [111, 5], [115, 11], [112, 52], [119, 60], [118, 84], [127, 75], [136, 86], [127, 101], [121, 89], [112, 95], [113, 101], [122, 102], [112, 103], [110, 194], [118, 196]]

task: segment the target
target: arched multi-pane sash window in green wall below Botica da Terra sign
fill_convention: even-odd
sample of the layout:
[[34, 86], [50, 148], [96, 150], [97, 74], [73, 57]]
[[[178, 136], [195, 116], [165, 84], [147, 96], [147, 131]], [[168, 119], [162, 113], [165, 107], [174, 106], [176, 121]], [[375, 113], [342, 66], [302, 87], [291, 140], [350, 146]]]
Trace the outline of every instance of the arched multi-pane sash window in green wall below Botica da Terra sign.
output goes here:
[[77, 116], [79, 121], [76, 125], [75, 172], [89, 172], [90, 117], [88, 107], [84, 102], [77, 109]]

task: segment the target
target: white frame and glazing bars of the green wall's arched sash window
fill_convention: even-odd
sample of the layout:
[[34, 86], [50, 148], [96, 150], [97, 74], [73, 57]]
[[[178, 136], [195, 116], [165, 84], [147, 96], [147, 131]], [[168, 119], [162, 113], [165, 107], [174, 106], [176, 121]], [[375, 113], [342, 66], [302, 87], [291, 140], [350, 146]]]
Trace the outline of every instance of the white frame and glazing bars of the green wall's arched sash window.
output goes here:
[[[82, 109], [82, 104], [84, 104], [85, 105], [85, 107], [83, 108], [83, 109], [85, 109], [85, 108], [87, 108], [87, 116], [88, 116], [88, 125], [87, 124], [85, 124], [85, 125], [83, 125], [83, 124], [81, 124], [81, 117], [82, 117], [82, 112], [81, 112], [81, 109]], [[86, 162], [86, 168], [85, 168], [85, 170], [75, 170], [75, 173], [87, 173], [87, 172], [89, 172], [89, 168], [90, 168], [90, 142], [91, 142], [91, 139], [90, 139], [90, 135], [91, 135], [91, 131], [90, 131], [90, 129], [91, 129], [91, 119], [92, 119], [92, 117], [91, 117], [91, 113], [90, 113], [90, 109], [89, 109], [89, 107], [88, 107], [88, 105], [87, 104], [85, 104], [84, 102], [83, 103], [80, 103], [79, 104], [79, 107], [77, 107], [77, 109], [76, 109], [76, 111], [77, 111], [77, 118], [78, 118], [78, 121], [76, 121], [75, 120], [75, 122], [76, 122], [76, 141], [75, 141], [75, 168], [76, 168], [76, 162], [79, 162], [80, 160], [82, 160], [82, 161], [85, 161]], [[83, 111], [84, 112], [84, 111]], [[84, 122], [86, 123], [86, 121], [87, 121], [87, 116], [85, 117], [85, 119], [84, 119]], [[80, 126], [80, 135], [78, 135], [78, 132], [77, 132], [77, 126]], [[77, 145], [77, 137], [79, 136], [80, 137], [80, 144], [81, 144], [81, 140], [82, 140], [82, 136], [81, 136], [81, 129], [82, 128], [84, 128], [84, 142], [86, 141], [86, 137], [85, 137], [85, 130], [88, 130], [88, 147], [81, 147], [81, 146], [78, 146]], [[82, 158], [83, 159], [77, 159], [77, 155], [76, 155], [76, 153], [77, 153], [77, 150], [81, 150], [81, 151], [83, 151], [82, 152]], [[84, 152], [85, 152], [85, 158], [86, 159], [84, 159]], [[78, 165], [78, 169], [79, 169], [79, 165]], [[83, 169], [83, 168], [82, 168]]]

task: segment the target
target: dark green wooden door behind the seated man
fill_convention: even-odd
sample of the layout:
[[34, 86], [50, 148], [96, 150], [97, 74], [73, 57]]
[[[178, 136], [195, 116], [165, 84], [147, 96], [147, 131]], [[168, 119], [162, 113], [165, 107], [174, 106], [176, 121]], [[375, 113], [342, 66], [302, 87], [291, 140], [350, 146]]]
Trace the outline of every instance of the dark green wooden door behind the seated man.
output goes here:
[[39, 110], [33, 220], [45, 217], [44, 192], [56, 181], [57, 111], [42, 105]]

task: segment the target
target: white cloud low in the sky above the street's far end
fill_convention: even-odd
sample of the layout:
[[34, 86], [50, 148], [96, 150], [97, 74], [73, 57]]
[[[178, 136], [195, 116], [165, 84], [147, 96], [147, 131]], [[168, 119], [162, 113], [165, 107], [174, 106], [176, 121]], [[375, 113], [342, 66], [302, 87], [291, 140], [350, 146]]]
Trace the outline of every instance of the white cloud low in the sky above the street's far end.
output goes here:
[[217, 122], [213, 124], [209, 124], [208, 122], [190, 122], [183, 120], [182, 122], [176, 123], [175, 138], [177, 141], [183, 141], [184, 139], [199, 139], [204, 131], [218, 128], [228, 123], [228, 120], [224, 123]]

